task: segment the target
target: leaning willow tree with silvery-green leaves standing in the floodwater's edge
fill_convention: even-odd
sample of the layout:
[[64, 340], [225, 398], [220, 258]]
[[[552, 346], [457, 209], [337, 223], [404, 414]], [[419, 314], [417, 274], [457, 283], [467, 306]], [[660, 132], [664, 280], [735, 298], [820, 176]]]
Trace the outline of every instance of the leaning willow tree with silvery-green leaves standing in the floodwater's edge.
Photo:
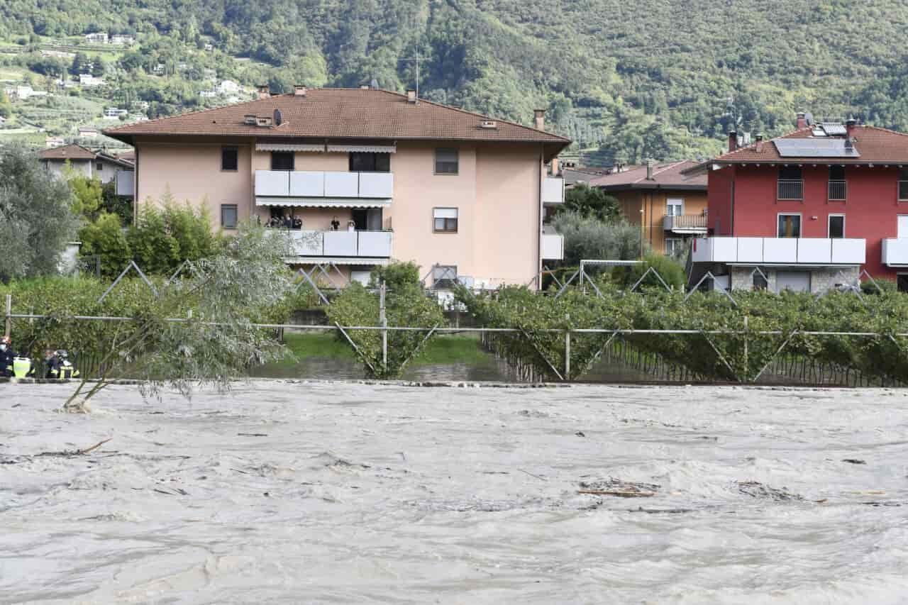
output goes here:
[[150, 295], [133, 321], [111, 327], [97, 382], [84, 377], [64, 410], [86, 412], [86, 402], [125, 377], [141, 381], [144, 396], [164, 387], [186, 397], [206, 385], [227, 391], [250, 366], [281, 358], [276, 335], [252, 318], [286, 295], [290, 246], [286, 233], [252, 224], [224, 238], [217, 253]]

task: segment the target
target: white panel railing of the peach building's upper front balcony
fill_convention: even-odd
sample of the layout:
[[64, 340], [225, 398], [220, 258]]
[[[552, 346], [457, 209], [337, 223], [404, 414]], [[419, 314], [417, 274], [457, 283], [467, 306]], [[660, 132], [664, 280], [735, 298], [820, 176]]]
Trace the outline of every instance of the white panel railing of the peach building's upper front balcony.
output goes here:
[[[257, 170], [257, 198], [369, 198], [390, 200], [394, 174], [344, 173], [316, 170]], [[268, 205], [256, 199], [257, 205]]]

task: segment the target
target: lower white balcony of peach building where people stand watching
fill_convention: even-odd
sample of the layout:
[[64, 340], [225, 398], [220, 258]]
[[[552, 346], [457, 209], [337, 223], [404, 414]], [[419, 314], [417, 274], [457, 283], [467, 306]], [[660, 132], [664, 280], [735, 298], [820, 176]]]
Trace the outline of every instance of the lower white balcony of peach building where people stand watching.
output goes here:
[[[356, 264], [390, 258], [393, 233], [390, 231], [276, 231], [287, 233], [293, 251], [305, 261], [318, 263], [333, 260]], [[293, 259], [300, 262], [301, 259]], [[368, 264], [368, 263], [367, 263]]]

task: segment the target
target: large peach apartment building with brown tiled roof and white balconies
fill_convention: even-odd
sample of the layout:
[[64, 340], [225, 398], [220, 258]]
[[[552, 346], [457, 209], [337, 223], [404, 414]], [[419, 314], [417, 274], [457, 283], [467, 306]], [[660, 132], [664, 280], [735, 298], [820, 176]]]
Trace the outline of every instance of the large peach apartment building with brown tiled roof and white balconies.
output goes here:
[[570, 141], [545, 132], [541, 111], [530, 128], [411, 92], [259, 96], [105, 131], [135, 147], [135, 203], [170, 193], [205, 204], [224, 230], [290, 217], [288, 263], [330, 263], [359, 280], [395, 259], [418, 263], [428, 285], [456, 274], [497, 287], [529, 283], [561, 257], [542, 217], [563, 201], [546, 166]]

